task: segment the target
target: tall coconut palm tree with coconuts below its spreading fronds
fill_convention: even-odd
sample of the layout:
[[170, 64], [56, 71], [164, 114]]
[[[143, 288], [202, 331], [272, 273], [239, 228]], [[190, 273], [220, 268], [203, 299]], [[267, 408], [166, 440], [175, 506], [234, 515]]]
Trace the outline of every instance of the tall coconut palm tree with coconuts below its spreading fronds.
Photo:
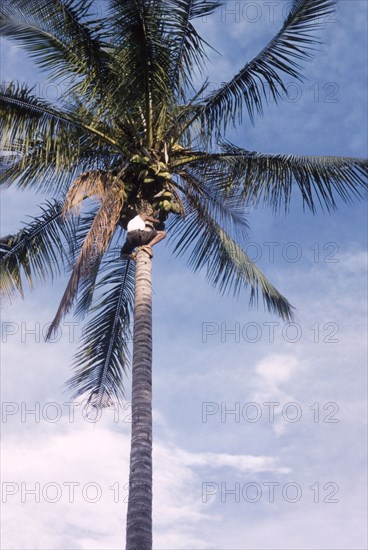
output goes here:
[[[10, 297], [64, 269], [70, 279], [50, 325], [75, 305], [89, 315], [68, 381], [91, 407], [118, 404], [132, 357], [132, 444], [127, 548], [152, 547], [151, 256], [120, 260], [137, 213], [167, 220], [173, 253], [206, 269], [220, 292], [246, 289], [250, 303], [284, 320], [288, 300], [244, 253], [246, 208], [289, 209], [300, 193], [312, 212], [360, 197], [367, 162], [245, 150], [226, 133], [262, 114], [303, 62], [333, 0], [294, 0], [279, 33], [214, 91], [204, 78], [207, 43], [193, 20], [217, 0], [3, 0], [1, 34], [20, 43], [63, 97], [36, 97], [26, 84], [2, 86], [1, 184], [52, 196], [42, 213], [0, 241], [2, 290]], [[198, 84], [202, 80], [201, 84]]]

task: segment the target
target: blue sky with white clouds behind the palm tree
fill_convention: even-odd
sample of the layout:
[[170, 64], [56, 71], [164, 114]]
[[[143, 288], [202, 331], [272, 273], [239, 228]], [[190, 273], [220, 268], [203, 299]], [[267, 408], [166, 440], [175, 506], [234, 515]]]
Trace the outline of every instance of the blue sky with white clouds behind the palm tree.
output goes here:
[[[201, 22], [222, 53], [211, 54], [211, 82], [267, 43], [284, 5], [228, 2]], [[245, 117], [229, 139], [261, 152], [367, 156], [367, 3], [338, 6], [309, 80], [290, 82], [293, 100], [269, 105], [254, 128]], [[51, 94], [18, 48], [3, 42], [1, 53], [2, 80]], [[1, 234], [43, 199], [3, 192]], [[288, 216], [249, 213], [248, 253], [296, 307], [293, 326], [249, 310], [246, 293], [219, 296], [170, 243], [155, 250], [155, 549], [366, 548], [366, 204], [317, 216], [292, 206]], [[56, 343], [43, 343], [42, 328], [65, 284], [2, 310], [4, 549], [124, 544], [130, 379], [126, 411], [94, 425], [62, 393], [74, 319]]]

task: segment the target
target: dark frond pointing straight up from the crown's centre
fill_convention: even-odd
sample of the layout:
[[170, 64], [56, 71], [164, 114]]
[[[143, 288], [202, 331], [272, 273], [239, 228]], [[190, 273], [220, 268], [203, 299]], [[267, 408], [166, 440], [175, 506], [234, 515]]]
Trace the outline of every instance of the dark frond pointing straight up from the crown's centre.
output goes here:
[[[168, 87], [170, 48], [160, 14], [163, 0], [111, 0], [109, 15], [113, 21], [114, 43], [112, 70], [118, 101], [136, 110], [143, 121], [145, 146], [151, 147], [154, 125], [172, 99]], [[119, 97], [120, 96], [120, 99]]]

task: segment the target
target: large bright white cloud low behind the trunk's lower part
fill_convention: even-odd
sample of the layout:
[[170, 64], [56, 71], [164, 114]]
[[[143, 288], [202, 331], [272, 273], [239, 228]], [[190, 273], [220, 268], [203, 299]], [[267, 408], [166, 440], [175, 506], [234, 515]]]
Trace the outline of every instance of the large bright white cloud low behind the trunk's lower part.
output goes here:
[[[128, 426], [120, 423], [112, 430], [108, 417], [95, 426], [80, 416], [73, 423], [64, 417], [58, 423], [33, 426], [29, 421], [31, 429], [22, 439], [7, 437], [3, 443], [7, 459], [2, 465], [4, 548], [69, 548], [73, 537], [73, 547], [83, 550], [121, 547]], [[156, 439], [154, 525], [158, 548], [179, 550], [194, 543], [198, 548], [209, 547], [197, 533], [203, 522], [219, 520], [216, 513], [209, 515], [202, 502], [197, 468], [206, 467], [212, 472], [219, 468], [239, 473], [288, 471], [272, 457], [190, 453]]]

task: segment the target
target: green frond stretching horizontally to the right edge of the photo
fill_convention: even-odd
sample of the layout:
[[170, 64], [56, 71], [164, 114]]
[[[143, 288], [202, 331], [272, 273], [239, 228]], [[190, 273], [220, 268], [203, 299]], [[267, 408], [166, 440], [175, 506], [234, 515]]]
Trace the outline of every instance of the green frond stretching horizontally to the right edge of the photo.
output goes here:
[[262, 202], [275, 212], [287, 211], [293, 192], [299, 191], [304, 207], [331, 211], [337, 198], [349, 203], [367, 191], [366, 159], [267, 155], [230, 143], [222, 148], [224, 153], [213, 155], [218, 184], [230, 194], [240, 193], [249, 205]]

